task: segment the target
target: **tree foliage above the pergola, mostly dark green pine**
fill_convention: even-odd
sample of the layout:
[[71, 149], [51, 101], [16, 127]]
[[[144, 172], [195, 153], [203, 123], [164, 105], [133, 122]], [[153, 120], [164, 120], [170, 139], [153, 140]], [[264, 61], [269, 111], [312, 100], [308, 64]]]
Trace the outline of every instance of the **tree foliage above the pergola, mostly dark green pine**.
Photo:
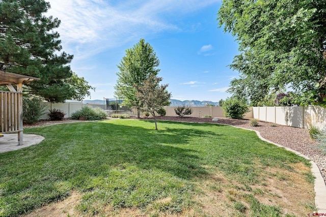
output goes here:
[[43, 14], [44, 0], [0, 1], [0, 71], [40, 78], [24, 90], [51, 102], [83, 99], [93, 89], [68, 65], [73, 55], [62, 50], [60, 35], [53, 29], [60, 20]]

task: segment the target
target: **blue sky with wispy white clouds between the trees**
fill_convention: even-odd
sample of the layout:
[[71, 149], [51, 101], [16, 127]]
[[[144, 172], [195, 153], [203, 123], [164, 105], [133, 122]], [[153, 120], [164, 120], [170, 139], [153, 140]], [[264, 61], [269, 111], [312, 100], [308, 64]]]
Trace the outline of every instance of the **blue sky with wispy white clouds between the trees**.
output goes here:
[[172, 99], [218, 102], [230, 96], [225, 91], [238, 73], [227, 65], [238, 45], [218, 28], [221, 1], [47, 1], [47, 16], [61, 20], [63, 51], [74, 55], [72, 70], [96, 88], [92, 100], [114, 97], [117, 65], [141, 38], [154, 48]]

